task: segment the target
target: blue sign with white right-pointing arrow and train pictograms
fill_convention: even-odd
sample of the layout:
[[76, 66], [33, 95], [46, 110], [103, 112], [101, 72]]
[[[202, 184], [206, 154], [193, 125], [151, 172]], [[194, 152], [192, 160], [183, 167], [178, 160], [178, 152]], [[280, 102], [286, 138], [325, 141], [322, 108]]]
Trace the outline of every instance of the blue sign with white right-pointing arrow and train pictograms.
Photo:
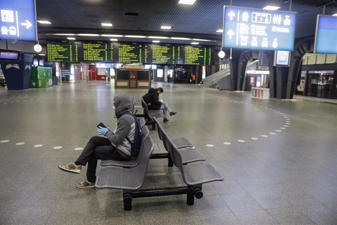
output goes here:
[[35, 0], [1, 0], [0, 39], [36, 41]]

